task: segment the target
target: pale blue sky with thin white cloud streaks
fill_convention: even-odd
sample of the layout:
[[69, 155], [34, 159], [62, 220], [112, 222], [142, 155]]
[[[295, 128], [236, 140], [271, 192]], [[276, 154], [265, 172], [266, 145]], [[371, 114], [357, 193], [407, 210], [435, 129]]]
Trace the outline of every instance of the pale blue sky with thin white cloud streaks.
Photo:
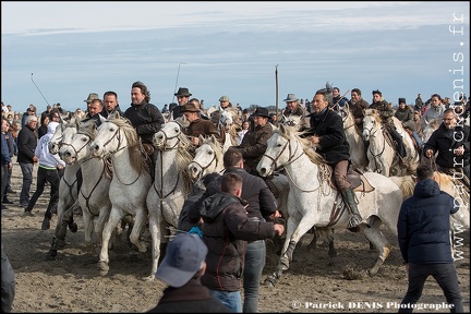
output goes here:
[[86, 109], [89, 93], [158, 108], [188, 87], [205, 108], [285, 108], [329, 82], [371, 102], [470, 95], [469, 1], [1, 1], [1, 100]]

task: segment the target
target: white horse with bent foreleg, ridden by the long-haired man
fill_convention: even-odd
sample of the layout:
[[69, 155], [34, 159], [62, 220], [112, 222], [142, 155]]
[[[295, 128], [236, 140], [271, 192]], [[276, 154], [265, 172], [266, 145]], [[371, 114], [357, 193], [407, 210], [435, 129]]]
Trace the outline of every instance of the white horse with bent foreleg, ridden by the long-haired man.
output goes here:
[[135, 217], [130, 241], [142, 253], [147, 245], [141, 240], [141, 233], [147, 222], [146, 197], [152, 185], [148, 166], [145, 164], [140, 137], [129, 121], [119, 113], [108, 117], [98, 126], [98, 134], [89, 144], [92, 156], [102, 158], [111, 156], [113, 177], [109, 188], [111, 213], [102, 232], [101, 252], [98, 267], [101, 275], [109, 270], [108, 245], [112, 230], [125, 215]]

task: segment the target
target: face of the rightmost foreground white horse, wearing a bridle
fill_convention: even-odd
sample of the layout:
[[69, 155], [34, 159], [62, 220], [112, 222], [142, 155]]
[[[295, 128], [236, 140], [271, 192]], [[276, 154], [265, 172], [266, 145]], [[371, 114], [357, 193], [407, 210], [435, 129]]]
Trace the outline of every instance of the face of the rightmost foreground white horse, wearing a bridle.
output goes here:
[[285, 166], [289, 161], [290, 142], [279, 132], [267, 141], [267, 149], [257, 165], [257, 171], [262, 177], [270, 176], [276, 169]]

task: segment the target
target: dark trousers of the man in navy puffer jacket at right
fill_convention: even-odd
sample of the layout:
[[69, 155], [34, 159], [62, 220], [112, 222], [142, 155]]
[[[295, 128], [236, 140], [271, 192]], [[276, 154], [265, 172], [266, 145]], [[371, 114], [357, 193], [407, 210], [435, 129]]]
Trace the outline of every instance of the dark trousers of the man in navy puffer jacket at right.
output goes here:
[[428, 276], [435, 278], [448, 304], [452, 305], [450, 313], [463, 313], [458, 276], [454, 263], [409, 264], [409, 287], [401, 302], [401, 307], [403, 305], [407, 309], [399, 309], [398, 313], [412, 313], [413, 307], [411, 304], [416, 304], [421, 298], [425, 280]]

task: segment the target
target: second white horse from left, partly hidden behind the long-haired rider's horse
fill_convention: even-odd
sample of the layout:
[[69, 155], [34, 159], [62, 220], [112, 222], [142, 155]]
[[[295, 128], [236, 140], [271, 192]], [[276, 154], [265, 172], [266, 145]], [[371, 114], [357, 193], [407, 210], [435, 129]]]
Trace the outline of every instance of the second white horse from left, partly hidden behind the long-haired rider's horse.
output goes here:
[[[95, 122], [81, 123], [72, 142], [60, 148], [60, 155], [68, 165], [78, 164], [82, 169], [83, 182], [78, 193], [78, 205], [82, 208], [85, 243], [96, 255], [93, 243], [95, 230], [101, 243], [101, 234], [111, 212], [109, 188], [111, 170], [105, 158], [92, 156], [89, 143], [97, 135]], [[96, 224], [94, 224], [96, 222]]]

